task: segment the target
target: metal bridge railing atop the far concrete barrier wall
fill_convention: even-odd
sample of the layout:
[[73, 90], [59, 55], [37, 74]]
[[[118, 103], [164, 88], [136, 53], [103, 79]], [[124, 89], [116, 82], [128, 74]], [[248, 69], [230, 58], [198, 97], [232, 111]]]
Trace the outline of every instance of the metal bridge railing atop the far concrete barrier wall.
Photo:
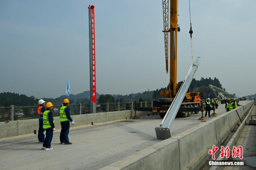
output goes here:
[[[105, 103], [96, 105], [96, 112], [110, 112], [110, 111], [125, 111], [134, 109], [135, 102], [128, 103]], [[151, 107], [152, 102], [137, 102], [137, 107]], [[78, 105], [69, 105], [71, 115], [79, 114], [89, 114], [91, 110], [90, 104], [78, 104]], [[14, 106], [10, 107], [0, 107], [0, 122], [3, 121], [13, 121], [13, 120], [23, 120], [23, 119], [32, 119], [37, 117], [37, 108], [38, 106]], [[61, 105], [53, 106], [53, 114], [55, 117], [59, 116], [59, 110]]]

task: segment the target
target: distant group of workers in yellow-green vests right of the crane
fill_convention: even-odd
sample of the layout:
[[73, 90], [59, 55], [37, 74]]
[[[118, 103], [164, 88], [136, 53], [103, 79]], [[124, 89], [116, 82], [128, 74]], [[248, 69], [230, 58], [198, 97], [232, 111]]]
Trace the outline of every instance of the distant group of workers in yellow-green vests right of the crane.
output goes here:
[[[222, 104], [225, 104], [225, 109], [228, 111], [232, 111], [233, 109], [236, 109], [237, 106], [240, 106], [238, 104], [238, 100], [237, 98], [222, 98], [221, 99], [221, 103]], [[215, 106], [216, 109], [218, 109], [218, 98], [213, 98], [213, 99], [210, 99], [210, 98], [207, 98], [205, 100], [205, 116], [207, 116], [207, 113], [208, 113], [208, 116], [210, 116], [210, 110]]]

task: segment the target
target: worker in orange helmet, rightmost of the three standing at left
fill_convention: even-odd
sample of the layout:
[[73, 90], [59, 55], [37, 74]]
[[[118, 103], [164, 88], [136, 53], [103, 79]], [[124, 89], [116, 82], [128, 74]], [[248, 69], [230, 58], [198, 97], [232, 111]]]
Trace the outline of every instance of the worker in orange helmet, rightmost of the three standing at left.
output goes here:
[[69, 100], [65, 98], [63, 100], [63, 106], [60, 109], [60, 122], [61, 122], [61, 134], [60, 134], [60, 141], [61, 144], [72, 144], [68, 140], [68, 133], [69, 133], [69, 121], [71, 124], [74, 124], [74, 121], [70, 117], [70, 109], [68, 107]]

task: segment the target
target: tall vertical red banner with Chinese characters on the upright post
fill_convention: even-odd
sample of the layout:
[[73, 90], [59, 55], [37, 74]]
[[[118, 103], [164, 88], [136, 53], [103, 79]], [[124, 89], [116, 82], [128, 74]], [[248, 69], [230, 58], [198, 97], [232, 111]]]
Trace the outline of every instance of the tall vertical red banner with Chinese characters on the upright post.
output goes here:
[[91, 9], [91, 30], [92, 30], [92, 102], [96, 102], [96, 62], [95, 62], [95, 20], [94, 20], [94, 6]]

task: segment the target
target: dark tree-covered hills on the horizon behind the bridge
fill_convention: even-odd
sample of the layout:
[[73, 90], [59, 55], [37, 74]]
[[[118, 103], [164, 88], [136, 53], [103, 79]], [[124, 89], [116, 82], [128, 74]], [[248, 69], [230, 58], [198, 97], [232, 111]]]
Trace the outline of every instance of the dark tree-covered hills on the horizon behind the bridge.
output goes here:
[[[212, 85], [215, 90], [210, 89], [209, 85]], [[156, 89], [154, 91], [145, 91], [139, 93], [131, 93], [128, 95], [120, 95], [120, 94], [110, 94], [115, 98], [115, 102], [134, 102], [134, 101], [152, 101], [152, 100], [159, 100], [162, 98], [160, 96], [160, 91], [167, 90], [166, 87], [161, 89]], [[219, 80], [217, 78], [201, 78], [200, 80], [192, 79], [192, 82], [189, 86], [189, 90], [191, 92], [200, 92], [203, 94], [203, 98], [207, 98], [210, 95], [210, 98], [216, 97], [218, 95], [216, 91], [222, 92], [223, 94], [229, 94], [225, 91], [225, 88], [222, 88]], [[102, 94], [106, 95], [106, 94]], [[236, 96], [236, 94], [230, 94], [231, 96]], [[97, 100], [100, 98], [101, 94], [97, 93]], [[247, 98], [256, 96], [251, 95], [247, 96]], [[66, 98], [65, 95], [62, 95], [58, 98], [43, 98], [46, 102], [52, 102], [54, 105], [61, 105], [63, 99]], [[70, 94], [67, 97], [70, 101], [70, 104], [90, 104], [90, 91], [85, 91], [79, 94]], [[9, 107], [10, 105], [17, 105], [17, 106], [32, 106], [38, 105], [38, 98], [34, 98], [34, 96], [27, 97], [24, 94], [18, 93], [11, 93], [11, 92], [3, 92], [0, 93], [0, 106]]]

